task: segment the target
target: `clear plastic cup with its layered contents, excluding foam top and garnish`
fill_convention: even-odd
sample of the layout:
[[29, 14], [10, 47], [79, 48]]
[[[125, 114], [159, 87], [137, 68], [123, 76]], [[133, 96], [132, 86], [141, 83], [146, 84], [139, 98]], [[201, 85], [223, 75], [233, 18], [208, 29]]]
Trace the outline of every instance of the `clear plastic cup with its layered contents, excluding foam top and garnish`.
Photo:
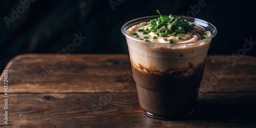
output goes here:
[[193, 112], [211, 39], [217, 29], [210, 23], [192, 17], [187, 22], [201, 26], [212, 35], [185, 44], [146, 42], [126, 34], [126, 30], [159, 16], [136, 18], [125, 23], [133, 78], [139, 103], [145, 115], [160, 120], [179, 120]]

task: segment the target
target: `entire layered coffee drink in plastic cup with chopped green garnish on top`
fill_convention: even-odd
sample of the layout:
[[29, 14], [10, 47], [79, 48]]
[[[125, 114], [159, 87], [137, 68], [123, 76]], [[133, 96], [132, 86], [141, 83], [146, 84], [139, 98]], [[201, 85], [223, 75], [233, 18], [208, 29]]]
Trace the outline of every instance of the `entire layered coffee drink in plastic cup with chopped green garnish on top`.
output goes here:
[[[143, 112], [156, 119], [177, 120], [193, 112], [207, 51], [217, 30], [201, 19], [166, 17], [134, 19], [121, 31]], [[157, 23], [159, 20], [164, 23]], [[169, 27], [165, 20], [169, 24], [175, 21], [177, 26]]]

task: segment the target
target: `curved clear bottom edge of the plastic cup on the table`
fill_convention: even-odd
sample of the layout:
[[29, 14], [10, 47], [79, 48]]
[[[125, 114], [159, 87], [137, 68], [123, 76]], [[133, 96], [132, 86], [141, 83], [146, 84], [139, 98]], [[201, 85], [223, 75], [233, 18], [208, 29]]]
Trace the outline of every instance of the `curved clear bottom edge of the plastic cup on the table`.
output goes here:
[[145, 110], [143, 110], [143, 113], [148, 116], [148, 117], [151, 117], [151, 118], [154, 118], [154, 119], [159, 119], [159, 120], [167, 120], [167, 121], [175, 121], [175, 120], [181, 120], [185, 117], [187, 117], [188, 115], [190, 115], [194, 110], [191, 110], [189, 113], [187, 114], [184, 114], [184, 115], [178, 115], [178, 116], [161, 116], [161, 115], [156, 115], [156, 114], [153, 114], [153, 113], [150, 113], [150, 112], [147, 112]]

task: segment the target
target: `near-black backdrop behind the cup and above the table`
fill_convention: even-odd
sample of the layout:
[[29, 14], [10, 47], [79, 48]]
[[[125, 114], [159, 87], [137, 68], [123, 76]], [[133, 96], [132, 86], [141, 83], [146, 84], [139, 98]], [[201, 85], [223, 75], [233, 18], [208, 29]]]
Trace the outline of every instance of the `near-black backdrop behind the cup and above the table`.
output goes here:
[[[22, 0], [27, 1], [27, 0]], [[19, 1], [0, 2], [0, 70], [14, 56], [23, 53], [58, 53], [67, 48], [82, 34], [87, 39], [75, 48], [72, 54], [117, 54], [128, 53], [121, 26], [134, 18], [162, 14], [187, 16], [194, 12], [197, 18], [207, 20], [218, 29], [212, 40], [209, 55], [232, 55], [243, 49], [245, 39], [256, 41], [255, 14], [253, 1], [205, 0], [205, 7], [195, 13], [190, 6], [198, 1], [35, 1], [24, 9], [24, 13], [10, 23], [12, 10], [17, 11]], [[116, 3], [117, 5], [110, 4]], [[112, 8], [113, 7], [113, 8]], [[22, 10], [21, 10], [22, 11]], [[256, 45], [246, 55], [256, 56]]]

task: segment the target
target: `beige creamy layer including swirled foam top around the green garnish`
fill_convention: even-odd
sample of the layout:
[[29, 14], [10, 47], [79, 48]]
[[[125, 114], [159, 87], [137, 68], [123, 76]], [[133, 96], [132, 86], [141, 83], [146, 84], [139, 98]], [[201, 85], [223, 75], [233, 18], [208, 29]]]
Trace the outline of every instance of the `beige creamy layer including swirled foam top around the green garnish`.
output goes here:
[[[137, 30], [148, 26], [148, 23], [141, 23], [133, 26], [127, 30], [126, 33], [131, 35], [131, 33], [136, 32], [139, 35], [138, 38], [143, 38], [147, 35], [142, 34], [142, 32], [137, 32]], [[192, 63], [194, 66], [198, 66], [200, 64], [203, 65], [211, 39], [206, 42], [198, 42], [196, 44], [181, 44], [200, 40], [201, 37], [199, 34], [195, 33], [196, 31], [199, 31], [200, 33], [203, 32], [208, 35], [208, 37], [211, 36], [209, 31], [205, 31], [204, 28], [196, 26], [193, 31], [194, 33], [191, 32], [190, 34], [186, 34], [180, 39], [178, 39], [177, 36], [158, 37], [157, 39], [153, 39], [152, 37], [156, 34], [154, 32], [150, 33], [151, 37], [148, 38], [150, 42], [163, 44], [143, 42], [135, 36], [134, 38], [126, 37], [130, 59], [134, 62], [134, 66], [139, 70], [142, 70], [142, 72], [143, 69], [140, 68], [141, 66], [151, 69], [152, 71], [164, 72], [168, 69], [187, 69], [190, 66], [189, 63]], [[165, 41], [163, 38], [173, 38], [174, 43], [177, 45], [168, 46], [166, 43], [169, 44], [169, 42]], [[144, 72], [146, 72], [146, 70]]]

